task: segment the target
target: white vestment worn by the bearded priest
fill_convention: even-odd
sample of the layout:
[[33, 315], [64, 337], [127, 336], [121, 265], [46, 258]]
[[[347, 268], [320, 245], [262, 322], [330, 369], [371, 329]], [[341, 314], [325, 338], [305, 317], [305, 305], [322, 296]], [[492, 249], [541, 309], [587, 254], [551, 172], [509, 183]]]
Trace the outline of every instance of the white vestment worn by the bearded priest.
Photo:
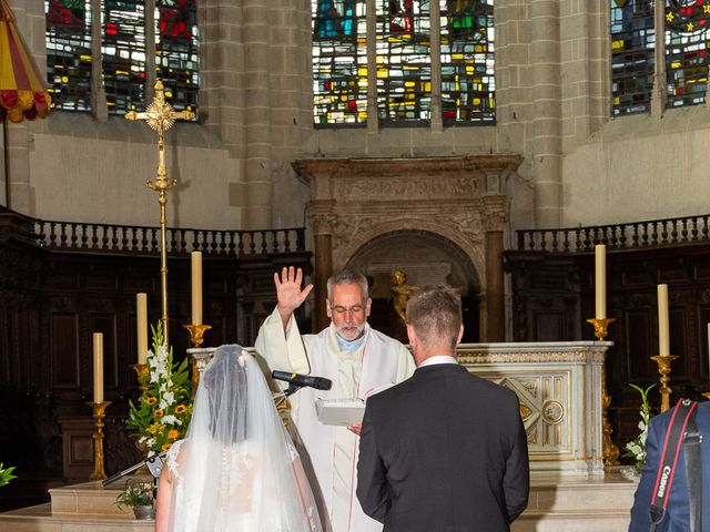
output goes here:
[[302, 388], [290, 397], [291, 416], [307, 453], [303, 457], [301, 450], [302, 458], [310, 460], [313, 467], [312, 488], [321, 502], [320, 511], [326, 513], [322, 515], [324, 530], [382, 531], [379, 522], [365, 515], [355, 494], [359, 437], [345, 427], [321, 423], [315, 401], [366, 399], [375, 388], [409, 378], [415, 366], [407, 348], [369, 325], [365, 326], [365, 341], [354, 351], [341, 350], [333, 324], [317, 335], [302, 336], [292, 317], [284, 335], [277, 309], [262, 325], [255, 348], [272, 370], [325, 377], [333, 381], [331, 390]]

